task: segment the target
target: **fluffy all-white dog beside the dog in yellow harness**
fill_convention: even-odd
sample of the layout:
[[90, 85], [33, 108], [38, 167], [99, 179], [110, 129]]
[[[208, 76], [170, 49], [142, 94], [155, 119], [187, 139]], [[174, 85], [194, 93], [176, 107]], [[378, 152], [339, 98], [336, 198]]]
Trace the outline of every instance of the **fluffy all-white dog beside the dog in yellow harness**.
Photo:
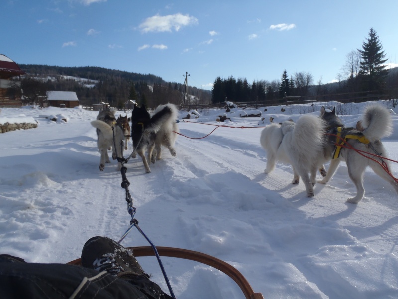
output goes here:
[[274, 170], [278, 160], [291, 164], [294, 174], [292, 184], [298, 184], [301, 176], [307, 196], [314, 196], [317, 170], [326, 175], [323, 166], [323, 127], [324, 122], [313, 115], [301, 116], [296, 124], [284, 121], [267, 125], [260, 137], [260, 144], [267, 151], [267, 168], [264, 172]]

